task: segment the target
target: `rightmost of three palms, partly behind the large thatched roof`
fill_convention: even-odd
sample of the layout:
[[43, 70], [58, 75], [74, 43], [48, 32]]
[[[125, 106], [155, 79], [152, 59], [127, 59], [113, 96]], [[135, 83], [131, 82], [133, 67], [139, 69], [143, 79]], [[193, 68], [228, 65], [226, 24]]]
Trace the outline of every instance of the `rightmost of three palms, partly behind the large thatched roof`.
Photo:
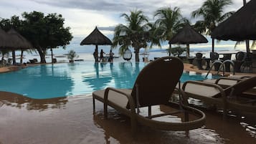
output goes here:
[[[203, 5], [193, 11], [191, 16], [193, 18], [202, 16], [203, 20], [196, 21], [195, 26], [199, 26], [201, 28], [200, 32], [206, 32], [207, 35], [212, 34], [212, 31], [217, 24], [227, 19], [227, 17], [231, 16], [234, 12], [229, 11], [224, 14], [224, 7], [232, 4], [232, 0], [207, 0], [204, 1]], [[203, 29], [202, 29], [203, 28]], [[212, 52], [214, 52], [214, 39], [212, 39]]]

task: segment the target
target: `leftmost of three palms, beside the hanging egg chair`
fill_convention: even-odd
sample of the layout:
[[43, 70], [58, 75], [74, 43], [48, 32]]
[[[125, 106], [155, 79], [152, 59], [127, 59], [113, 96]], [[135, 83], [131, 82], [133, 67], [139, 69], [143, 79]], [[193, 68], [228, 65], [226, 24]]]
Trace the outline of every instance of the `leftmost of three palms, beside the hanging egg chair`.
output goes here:
[[147, 47], [148, 42], [148, 18], [143, 11], [134, 10], [131, 14], [121, 14], [127, 25], [118, 24], [114, 30], [112, 48], [120, 45], [119, 53], [122, 55], [128, 47], [133, 47], [136, 54], [136, 62], [139, 62], [138, 52]]

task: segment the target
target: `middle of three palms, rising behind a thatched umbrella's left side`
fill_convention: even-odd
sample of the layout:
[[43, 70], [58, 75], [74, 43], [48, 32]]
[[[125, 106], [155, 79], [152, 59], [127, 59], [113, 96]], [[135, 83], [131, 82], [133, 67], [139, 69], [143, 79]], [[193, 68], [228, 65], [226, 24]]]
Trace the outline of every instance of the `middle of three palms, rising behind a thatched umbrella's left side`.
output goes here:
[[[157, 17], [156, 24], [156, 34], [158, 35], [158, 40], [161, 42], [170, 40], [171, 37], [176, 34], [176, 32], [184, 26], [187, 22], [181, 16], [181, 11], [179, 7], [164, 7], [155, 11], [154, 17]], [[171, 49], [171, 44], [169, 44], [169, 49]], [[170, 54], [170, 53], [169, 53]]]

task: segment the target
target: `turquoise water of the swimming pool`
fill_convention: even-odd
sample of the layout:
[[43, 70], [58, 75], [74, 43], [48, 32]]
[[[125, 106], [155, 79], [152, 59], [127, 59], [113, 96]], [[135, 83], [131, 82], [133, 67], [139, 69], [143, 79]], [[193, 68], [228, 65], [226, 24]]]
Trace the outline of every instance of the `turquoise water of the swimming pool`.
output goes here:
[[[0, 74], [0, 90], [46, 99], [90, 94], [105, 87], [131, 88], [145, 65], [144, 62], [42, 64]], [[204, 79], [205, 75], [184, 72], [181, 82]]]

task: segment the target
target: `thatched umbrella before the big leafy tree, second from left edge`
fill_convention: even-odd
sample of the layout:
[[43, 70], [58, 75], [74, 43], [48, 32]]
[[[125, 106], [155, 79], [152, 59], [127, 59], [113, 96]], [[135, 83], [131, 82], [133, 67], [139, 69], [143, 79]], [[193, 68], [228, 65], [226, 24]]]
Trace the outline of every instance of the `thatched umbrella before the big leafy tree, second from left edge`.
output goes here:
[[31, 49], [32, 44], [27, 41], [19, 32], [16, 32], [14, 29], [10, 29], [7, 34], [9, 34], [9, 40], [11, 41], [12, 44], [12, 59], [13, 59], [13, 64], [16, 63], [15, 60], [15, 49], [21, 49], [22, 54], [21, 54], [21, 63], [22, 63], [22, 57], [23, 57], [23, 51], [24, 49]]

